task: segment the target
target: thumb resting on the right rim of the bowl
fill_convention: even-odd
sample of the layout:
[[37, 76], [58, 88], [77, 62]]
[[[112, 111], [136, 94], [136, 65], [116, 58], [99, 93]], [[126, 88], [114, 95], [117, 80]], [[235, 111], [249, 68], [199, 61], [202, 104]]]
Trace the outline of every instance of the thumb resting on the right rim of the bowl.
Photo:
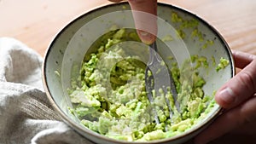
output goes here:
[[230, 109], [246, 101], [256, 92], [256, 59], [224, 84], [215, 95], [221, 107]]

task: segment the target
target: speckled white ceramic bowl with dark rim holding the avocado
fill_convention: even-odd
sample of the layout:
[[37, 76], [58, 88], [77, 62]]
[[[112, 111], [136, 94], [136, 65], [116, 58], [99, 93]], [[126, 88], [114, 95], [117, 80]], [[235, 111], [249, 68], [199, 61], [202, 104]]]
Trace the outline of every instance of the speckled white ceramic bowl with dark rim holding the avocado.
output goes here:
[[[99, 135], [82, 126], [79, 118], [67, 109], [67, 107], [73, 107], [67, 94], [67, 89], [71, 85], [71, 76], [75, 72], [73, 70], [76, 69], [79, 72], [79, 66], [81, 66], [84, 55], [90, 51], [90, 45], [102, 34], [108, 32], [109, 27], [117, 25], [135, 28], [129, 9], [128, 3], [114, 3], [93, 9], [68, 23], [55, 36], [46, 51], [43, 66], [44, 89], [49, 101], [64, 122], [79, 134], [84, 135], [85, 138], [96, 143], [178, 144], [188, 141], [218, 116], [221, 110], [218, 104], [214, 104], [211, 112], [208, 112], [201, 123], [195, 124], [191, 129], [170, 138], [142, 142], [118, 141]], [[162, 43], [165, 43], [167, 48], [171, 49], [171, 51], [170, 49], [168, 49], [169, 51], [160, 49], [159, 53], [163, 59], [172, 55], [178, 63], [182, 63], [191, 55], [199, 55], [209, 61], [209, 65], [200, 72], [207, 81], [203, 87], [205, 95], [212, 95], [215, 90], [234, 76], [235, 66], [228, 44], [218, 31], [205, 20], [166, 3], [158, 3], [158, 16], [157, 37]], [[221, 72], [217, 72], [216, 67], [221, 58], [229, 60], [230, 64], [220, 70]]]

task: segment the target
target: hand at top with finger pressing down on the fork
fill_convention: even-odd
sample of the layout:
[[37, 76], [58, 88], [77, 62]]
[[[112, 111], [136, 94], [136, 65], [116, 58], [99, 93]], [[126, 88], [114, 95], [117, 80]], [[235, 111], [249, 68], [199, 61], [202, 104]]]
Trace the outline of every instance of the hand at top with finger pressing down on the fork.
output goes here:
[[[122, 0], [109, 1], [118, 3]], [[138, 36], [141, 38], [143, 43], [153, 43], [157, 33], [157, 0], [128, 0], [128, 3], [131, 6]]]

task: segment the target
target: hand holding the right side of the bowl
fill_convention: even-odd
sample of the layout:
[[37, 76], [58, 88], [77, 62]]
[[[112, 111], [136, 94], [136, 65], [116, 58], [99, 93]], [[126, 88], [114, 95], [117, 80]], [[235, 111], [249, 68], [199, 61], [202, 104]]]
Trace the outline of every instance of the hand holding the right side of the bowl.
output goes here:
[[242, 130], [240, 128], [253, 123], [255, 128], [256, 55], [233, 51], [233, 56], [236, 67], [240, 68], [241, 72], [218, 89], [215, 95], [215, 100], [224, 108], [224, 113], [207, 130], [203, 130], [195, 137], [196, 144], [206, 144], [230, 131], [237, 132], [238, 129]]

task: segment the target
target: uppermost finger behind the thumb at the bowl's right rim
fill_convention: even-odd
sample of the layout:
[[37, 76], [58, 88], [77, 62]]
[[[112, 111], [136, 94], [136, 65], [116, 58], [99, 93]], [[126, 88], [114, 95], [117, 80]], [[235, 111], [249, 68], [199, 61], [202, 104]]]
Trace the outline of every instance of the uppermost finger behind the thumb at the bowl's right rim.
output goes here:
[[241, 69], [251, 63], [254, 59], [256, 59], [256, 55], [251, 55], [237, 50], [232, 50], [232, 54], [235, 60], [236, 67]]

